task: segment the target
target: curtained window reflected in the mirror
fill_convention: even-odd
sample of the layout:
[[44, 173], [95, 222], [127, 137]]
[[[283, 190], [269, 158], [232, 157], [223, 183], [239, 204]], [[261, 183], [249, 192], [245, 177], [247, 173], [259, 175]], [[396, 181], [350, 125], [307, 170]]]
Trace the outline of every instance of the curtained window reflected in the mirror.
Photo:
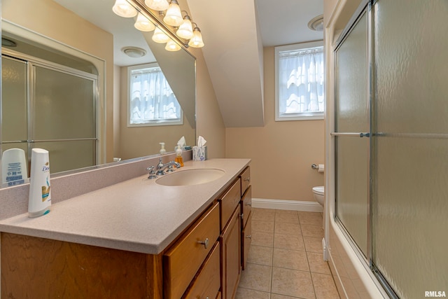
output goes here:
[[182, 125], [183, 112], [158, 64], [128, 67], [128, 127]]

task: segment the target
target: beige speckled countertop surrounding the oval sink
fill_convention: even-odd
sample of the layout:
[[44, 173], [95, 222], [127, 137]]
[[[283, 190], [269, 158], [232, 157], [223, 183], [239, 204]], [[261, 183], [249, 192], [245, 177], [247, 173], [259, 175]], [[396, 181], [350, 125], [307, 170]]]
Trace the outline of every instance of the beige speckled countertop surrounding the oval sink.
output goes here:
[[148, 180], [148, 175], [139, 176], [52, 204], [50, 213], [38, 218], [21, 214], [5, 219], [0, 221], [0, 231], [158, 254], [249, 162], [249, 159], [188, 161], [176, 172], [215, 168], [223, 169], [225, 174], [215, 181], [193, 186], [161, 186]]

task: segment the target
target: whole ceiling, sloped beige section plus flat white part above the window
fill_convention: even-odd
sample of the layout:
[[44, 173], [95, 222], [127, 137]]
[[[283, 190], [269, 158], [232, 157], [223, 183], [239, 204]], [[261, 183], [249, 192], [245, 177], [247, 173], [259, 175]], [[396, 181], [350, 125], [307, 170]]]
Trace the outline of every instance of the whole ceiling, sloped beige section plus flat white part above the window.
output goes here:
[[262, 46], [323, 40], [323, 0], [187, 0], [226, 127], [264, 125]]

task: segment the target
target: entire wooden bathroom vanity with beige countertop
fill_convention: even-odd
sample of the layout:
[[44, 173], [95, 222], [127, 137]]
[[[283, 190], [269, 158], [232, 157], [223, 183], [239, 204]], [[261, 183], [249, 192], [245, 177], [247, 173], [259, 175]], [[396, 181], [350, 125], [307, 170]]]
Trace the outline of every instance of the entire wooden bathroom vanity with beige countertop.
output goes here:
[[[234, 298], [251, 235], [249, 162], [188, 161], [164, 176], [170, 186], [140, 176], [0, 221], [1, 297]], [[192, 169], [223, 172], [167, 179]]]

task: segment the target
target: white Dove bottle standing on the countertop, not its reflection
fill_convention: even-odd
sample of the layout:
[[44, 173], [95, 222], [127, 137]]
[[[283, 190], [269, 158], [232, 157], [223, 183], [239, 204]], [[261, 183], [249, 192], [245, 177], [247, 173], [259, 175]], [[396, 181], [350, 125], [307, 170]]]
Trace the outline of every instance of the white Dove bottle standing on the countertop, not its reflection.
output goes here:
[[31, 151], [31, 175], [29, 177], [28, 216], [45, 215], [50, 211], [50, 161], [48, 151], [33, 148]]

